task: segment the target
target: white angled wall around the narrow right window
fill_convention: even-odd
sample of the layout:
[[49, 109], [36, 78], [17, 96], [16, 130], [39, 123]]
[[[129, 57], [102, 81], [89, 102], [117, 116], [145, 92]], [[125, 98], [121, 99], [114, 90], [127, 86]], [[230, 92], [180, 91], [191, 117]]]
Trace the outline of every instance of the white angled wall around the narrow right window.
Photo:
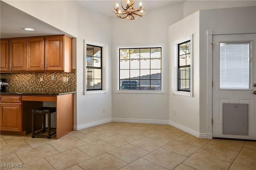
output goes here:
[[[193, 96], [180, 96], [172, 94], [174, 84], [174, 48], [171, 43], [180, 39], [184, 39], [193, 34]], [[169, 27], [169, 43], [170, 43], [170, 61], [169, 75], [170, 80], [170, 95], [169, 95], [169, 120], [172, 123], [186, 127], [191, 131], [199, 132], [199, 107], [200, 107], [200, 86], [199, 86], [199, 11], [180, 20]], [[176, 115], [174, 115], [176, 110]]]

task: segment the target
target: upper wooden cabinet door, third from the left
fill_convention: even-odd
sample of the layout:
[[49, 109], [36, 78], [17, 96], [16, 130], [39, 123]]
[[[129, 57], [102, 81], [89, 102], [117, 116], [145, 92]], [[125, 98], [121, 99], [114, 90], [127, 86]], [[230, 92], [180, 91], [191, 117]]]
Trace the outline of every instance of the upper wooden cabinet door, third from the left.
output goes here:
[[28, 71], [44, 71], [44, 37], [28, 38]]

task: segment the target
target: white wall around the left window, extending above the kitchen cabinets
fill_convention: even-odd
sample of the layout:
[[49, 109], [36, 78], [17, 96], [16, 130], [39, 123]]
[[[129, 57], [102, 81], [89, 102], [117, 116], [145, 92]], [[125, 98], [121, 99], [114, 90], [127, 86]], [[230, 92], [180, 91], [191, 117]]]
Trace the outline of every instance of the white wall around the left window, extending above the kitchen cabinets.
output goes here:
[[[77, 72], [77, 93], [74, 95], [74, 126], [111, 118], [111, 58], [107, 49], [108, 94], [83, 95], [84, 92], [84, 39], [111, 47], [111, 19], [88, 12], [74, 1], [4, 1], [39, 20], [74, 37], [72, 68]], [[100, 23], [100, 27], [95, 27]], [[102, 113], [103, 107], [106, 113]]]

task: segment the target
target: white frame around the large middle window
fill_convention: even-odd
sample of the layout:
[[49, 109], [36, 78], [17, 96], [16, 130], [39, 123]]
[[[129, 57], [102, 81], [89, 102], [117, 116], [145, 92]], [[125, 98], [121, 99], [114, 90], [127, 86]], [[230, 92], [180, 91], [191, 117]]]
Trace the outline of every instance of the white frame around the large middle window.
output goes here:
[[[132, 49], [132, 48], [162, 48], [161, 56], [161, 90], [119, 90], [119, 49]], [[165, 72], [164, 67], [164, 44], [144, 44], [144, 45], [118, 45], [117, 46], [117, 83], [116, 83], [116, 93], [141, 93], [141, 94], [164, 94], [164, 79], [163, 74]], [[166, 70], [167, 71], [167, 70]]]

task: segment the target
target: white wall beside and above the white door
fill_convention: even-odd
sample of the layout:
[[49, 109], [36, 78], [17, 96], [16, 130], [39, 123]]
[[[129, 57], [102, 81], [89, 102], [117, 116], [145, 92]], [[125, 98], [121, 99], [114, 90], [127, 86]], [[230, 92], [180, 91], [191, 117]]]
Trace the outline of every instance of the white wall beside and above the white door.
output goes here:
[[[254, 1], [256, 2], [256, 1]], [[256, 5], [256, 4], [255, 4]], [[256, 6], [200, 11], [200, 132], [207, 132], [208, 109], [208, 59], [207, 31], [240, 33], [251, 29], [256, 32]], [[211, 81], [211, 80], [210, 80]], [[211, 126], [211, 125], [210, 125]]]

